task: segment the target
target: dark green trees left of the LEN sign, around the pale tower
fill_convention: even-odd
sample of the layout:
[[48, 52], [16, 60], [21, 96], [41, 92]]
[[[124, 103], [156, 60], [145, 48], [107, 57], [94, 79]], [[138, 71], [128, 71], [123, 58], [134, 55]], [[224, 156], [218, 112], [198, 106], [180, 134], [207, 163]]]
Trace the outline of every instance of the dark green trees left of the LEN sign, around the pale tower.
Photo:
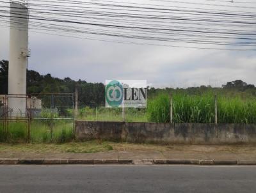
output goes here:
[[[0, 61], [0, 94], [8, 93], [8, 61]], [[74, 81], [69, 77], [58, 79], [52, 77], [51, 74], [40, 75], [34, 70], [27, 71], [27, 92], [28, 94], [42, 93], [74, 93], [75, 88], [78, 88], [79, 105], [98, 106], [104, 105], [104, 84], [88, 83], [86, 81]], [[51, 98], [44, 97], [42, 102], [45, 108], [50, 108]], [[67, 97], [60, 101], [54, 101], [55, 104], [60, 104], [60, 114], [65, 114], [65, 109], [61, 109], [63, 104], [70, 104], [70, 99]]]

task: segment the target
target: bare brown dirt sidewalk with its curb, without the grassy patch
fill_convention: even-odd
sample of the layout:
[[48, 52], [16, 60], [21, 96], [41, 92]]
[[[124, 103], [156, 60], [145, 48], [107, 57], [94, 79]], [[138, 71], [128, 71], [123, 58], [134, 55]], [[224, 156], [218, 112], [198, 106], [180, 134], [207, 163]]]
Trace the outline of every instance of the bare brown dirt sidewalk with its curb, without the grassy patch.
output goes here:
[[[0, 164], [255, 164], [256, 145], [152, 145], [108, 143], [98, 153], [3, 151]], [[1, 146], [1, 144], [0, 144]], [[57, 146], [58, 147], [58, 146]]]

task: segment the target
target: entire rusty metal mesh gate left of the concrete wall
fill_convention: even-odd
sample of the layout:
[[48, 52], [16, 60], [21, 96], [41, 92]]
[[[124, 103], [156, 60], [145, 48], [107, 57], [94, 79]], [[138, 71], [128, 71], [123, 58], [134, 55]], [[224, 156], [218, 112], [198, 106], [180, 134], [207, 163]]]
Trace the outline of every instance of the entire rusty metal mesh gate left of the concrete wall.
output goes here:
[[73, 139], [74, 94], [1, 95], [0, 135], [0, 141]]

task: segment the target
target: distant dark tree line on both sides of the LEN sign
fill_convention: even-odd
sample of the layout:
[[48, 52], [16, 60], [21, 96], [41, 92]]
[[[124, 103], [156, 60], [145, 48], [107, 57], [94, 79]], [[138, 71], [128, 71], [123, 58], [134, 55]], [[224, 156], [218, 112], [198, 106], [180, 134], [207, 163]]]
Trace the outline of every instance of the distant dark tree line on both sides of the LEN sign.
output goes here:
[[[74, 93], [77, 87], [79, 106], [104, 105], [104, 84], [90, 83], [86, 81], [74, 81], [69, 77], [59, 79], [52, 77], [50, 73], [40, 75], [35, 70], [27, 71], [27, 93]], [[255, 97], [256, 88], [253, 84], [246, 84], [241, 80], [227, 82], [221, 88], [211, 86], [199, 86], [191, 88], [148, 88], [147, 97], [154, 97], [159, 93], [184, 92], [188, 95], [200, 95], [205, 92], [224, 93], [225, 95], [240, 95], [243, 97]], [[0, 95], [8, 93], [8, 61], [0, 61]]]

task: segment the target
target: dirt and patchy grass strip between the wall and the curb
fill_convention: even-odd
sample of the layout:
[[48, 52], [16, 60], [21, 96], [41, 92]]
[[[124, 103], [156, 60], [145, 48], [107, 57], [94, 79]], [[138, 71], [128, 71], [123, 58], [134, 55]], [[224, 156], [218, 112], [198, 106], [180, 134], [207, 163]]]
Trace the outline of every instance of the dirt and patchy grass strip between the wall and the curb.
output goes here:
[[256, 159], [256, 145], [157, 145], [88, 141], [65, 144], [0, 143], [0, 158]]

